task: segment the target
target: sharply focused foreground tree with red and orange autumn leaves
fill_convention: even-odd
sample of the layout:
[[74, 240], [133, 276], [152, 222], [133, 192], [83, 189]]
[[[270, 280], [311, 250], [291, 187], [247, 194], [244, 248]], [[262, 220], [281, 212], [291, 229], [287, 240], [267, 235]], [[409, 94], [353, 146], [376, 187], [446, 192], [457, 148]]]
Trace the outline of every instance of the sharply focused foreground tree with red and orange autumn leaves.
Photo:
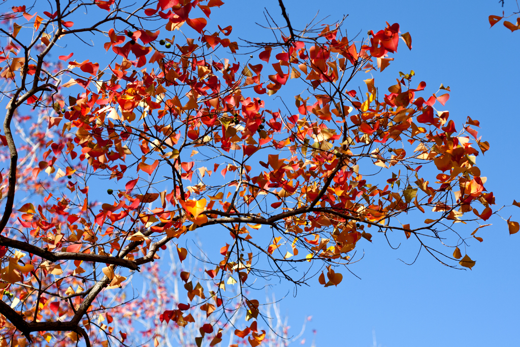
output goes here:
[[[135, 301], [109, 300], [114, 290], [167, 251], [193, 258], [183, 243], [199, 231], [204, 271], [178, 273], [187, 298], [152, 317], [154, 331], [198, 332], [199, 346], [226, 329], [261, 344], [260, 280], [337, 286], [369, 229], [475, 265], [466, 239], [482, 241], [501, 210], [475, 165], [489, 149], [479, 122], [437, 111], [450, 88], [424, 95], [413, 71], [388, 94], [374, 78], [356, 91], [357, 74], [383, 72], [400, 39], [412, 48], [399, 24], [367, 39], [348, 39], [343, 21], [297, 30], [280, 0], [283, 25], [266, 16], [276, 41], [239, 44], [230, 23], [208, 21], [219, 0], [47, 5], [13, 7], [0, 29], [1, 285], [13, 298], [0, 303], [0, 345], [127, 344], [114, 317]], [[67, 51], [80, 42], [88, 50]]]

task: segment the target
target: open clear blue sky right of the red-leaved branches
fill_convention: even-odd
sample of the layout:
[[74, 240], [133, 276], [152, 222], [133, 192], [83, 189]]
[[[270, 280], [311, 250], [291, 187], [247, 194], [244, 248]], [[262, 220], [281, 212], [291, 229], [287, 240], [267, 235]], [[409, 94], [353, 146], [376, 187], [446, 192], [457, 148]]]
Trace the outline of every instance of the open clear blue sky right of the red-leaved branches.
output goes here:
[[[382, 74], [374, 73], [376, 83], [383, 86], [395, 81], [399, 71], [414, 70], [415, 82], [425, 81], [428, 92], [435, 92], [441, 83], [450, 86], [451, 98], [445, 106], [450, 117], [458, 125], [467, 116], [479, 119], [479, 135], [491, 144], [486, 156], [477, 159], [488, 178], [486, 188], [495, 193], [498, 205], [520, 199], [520, 111], [515, 102], [520, 100], [520, 32], [511, 33], [501, 23], [489, 29], [488, 16], [502, 12], [497, 1], [284, 3], [297, 28], [319, 10], [318, 18], [330, 16], [328, 22], [349, 15], [344, 26], [349, 37], [382, 29], [385, 21], [397, 22], [401, 32], [410, 32], [413, 49], [401, 42], [395, 61]], [[232, 24], [240, 37], [250, 39], [263, 35], [254, 22], [265, 23], [264, 7], [283, 23], [278, 1], [246, 4], [244, 13], [243, 1], [228, 1], [222, 10], [214, 11], [212, 20]], [[512, 12], [513, 5], [506, 0], [504, 10]], [[520, 219], [516, 207], [502, 217], [507, 219], [511, 213], [513, 220]], [[345, 274], [337, 288], [322, 288], [311, 281], [311, 287], [298, 289], [296, 298], [291, 287], [278, 288], [279, 293], [290, 292], [281, 303], [282, 312], [290, 316], [294, 332], [304, 316], [312, 315], [308, 329], [317, 330], [317, 346], [368, 347], [373, 343], [372, 330], [377, 344], [386, 347], [520, 345], [520, 235], [510, 236], [500, 218], [490, 222], [493, 225], [480, 234], [484, 242], [472, 243], [471, 257], [477, 261], [472, 271], [446, 268], [425, 253], [407, 266], [397, 258], [411, 262], [417, 244], [411, 239], [406, 243], [403, 236], [396, 251], [384, 238], [375, 237], [373, 244], [358, 244], [365, 258], [350, 268], [361, 280]]]

